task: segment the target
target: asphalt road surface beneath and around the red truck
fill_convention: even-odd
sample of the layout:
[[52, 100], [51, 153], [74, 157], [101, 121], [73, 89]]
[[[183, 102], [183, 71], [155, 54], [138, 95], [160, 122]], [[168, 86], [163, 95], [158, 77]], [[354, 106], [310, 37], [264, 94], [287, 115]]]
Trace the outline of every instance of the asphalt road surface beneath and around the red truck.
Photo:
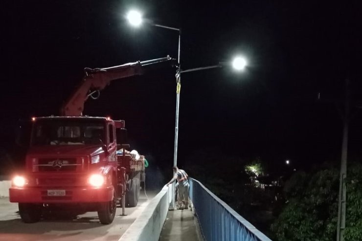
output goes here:
[[127, 228], [157, 192], [146, 192], [148, 200], [141, 190], [140, 200], [134, 208], [126, 208], [127, 216], [121, 216], [122, 208], [117, 208], [112, 224], [99, 222], [97, 212], [88, 212], [76, 219], [42, 219], [37, 223], [23, 223], [18, 204], [10, 203], [8, 198], [0, 198], [0, 241], [118, 241]]

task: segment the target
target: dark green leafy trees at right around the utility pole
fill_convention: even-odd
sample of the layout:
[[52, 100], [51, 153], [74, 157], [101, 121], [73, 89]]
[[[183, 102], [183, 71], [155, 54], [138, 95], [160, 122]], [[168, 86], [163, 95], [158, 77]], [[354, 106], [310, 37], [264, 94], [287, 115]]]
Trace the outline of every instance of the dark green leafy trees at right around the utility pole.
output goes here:
[[[345, 241], [362, 240], [362, 165], [347, 173]], [[285, 184], [286, 204], [271, 226], [278, 241], [331, 241], [337, 236], [339, 169], [294, 174]]]

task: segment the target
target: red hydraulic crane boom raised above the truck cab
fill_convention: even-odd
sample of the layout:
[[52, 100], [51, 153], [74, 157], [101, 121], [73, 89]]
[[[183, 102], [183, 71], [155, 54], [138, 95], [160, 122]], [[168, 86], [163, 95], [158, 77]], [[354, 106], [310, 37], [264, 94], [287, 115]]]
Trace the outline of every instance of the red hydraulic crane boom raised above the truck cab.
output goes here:
[[94, 92], [104, 89], [113, 80], [142, 75], [146, 66], [152, 65], [153, 67], [158, 67], [159, 65], [162, 65], [162, 63], [169, 63], [171, 66], [177, 64], [176, 59], [167, 56], [165, 58], [137, 61], [108, 68], [85, 68], [85, 77], [83, 81], [62, 106], [61, 115], [81, 116], [84, 109], [84, 103]]

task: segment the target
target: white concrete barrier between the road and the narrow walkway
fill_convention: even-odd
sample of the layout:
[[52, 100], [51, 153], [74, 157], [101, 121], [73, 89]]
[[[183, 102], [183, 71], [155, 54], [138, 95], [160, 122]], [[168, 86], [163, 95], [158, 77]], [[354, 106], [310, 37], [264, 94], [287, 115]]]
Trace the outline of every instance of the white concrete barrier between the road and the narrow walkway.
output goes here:
[[170, 203], [169, 190], [164, 186], [118, 241], [158, 241]]

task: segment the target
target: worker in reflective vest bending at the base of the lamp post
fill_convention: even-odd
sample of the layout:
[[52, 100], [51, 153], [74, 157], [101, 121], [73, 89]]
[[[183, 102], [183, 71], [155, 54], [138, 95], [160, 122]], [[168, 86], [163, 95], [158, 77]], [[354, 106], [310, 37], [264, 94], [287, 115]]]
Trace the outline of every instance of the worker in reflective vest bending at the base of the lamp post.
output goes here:
[[[188, 175], [185, 171], [182, 169], [179, 169], [177, 166], [174, 166], [173, 168], [174, 176], [172, 179], [167, 183], [167, 186], [170, 185], [175, 180], [178, 181], [179, 187], [178, 187], [178, 208], [179, 209], [188, 209], [188, 188], [190, 185], [188, 184]], [[182, 199], [184, 200], [184, 205], [182, 202]]]

